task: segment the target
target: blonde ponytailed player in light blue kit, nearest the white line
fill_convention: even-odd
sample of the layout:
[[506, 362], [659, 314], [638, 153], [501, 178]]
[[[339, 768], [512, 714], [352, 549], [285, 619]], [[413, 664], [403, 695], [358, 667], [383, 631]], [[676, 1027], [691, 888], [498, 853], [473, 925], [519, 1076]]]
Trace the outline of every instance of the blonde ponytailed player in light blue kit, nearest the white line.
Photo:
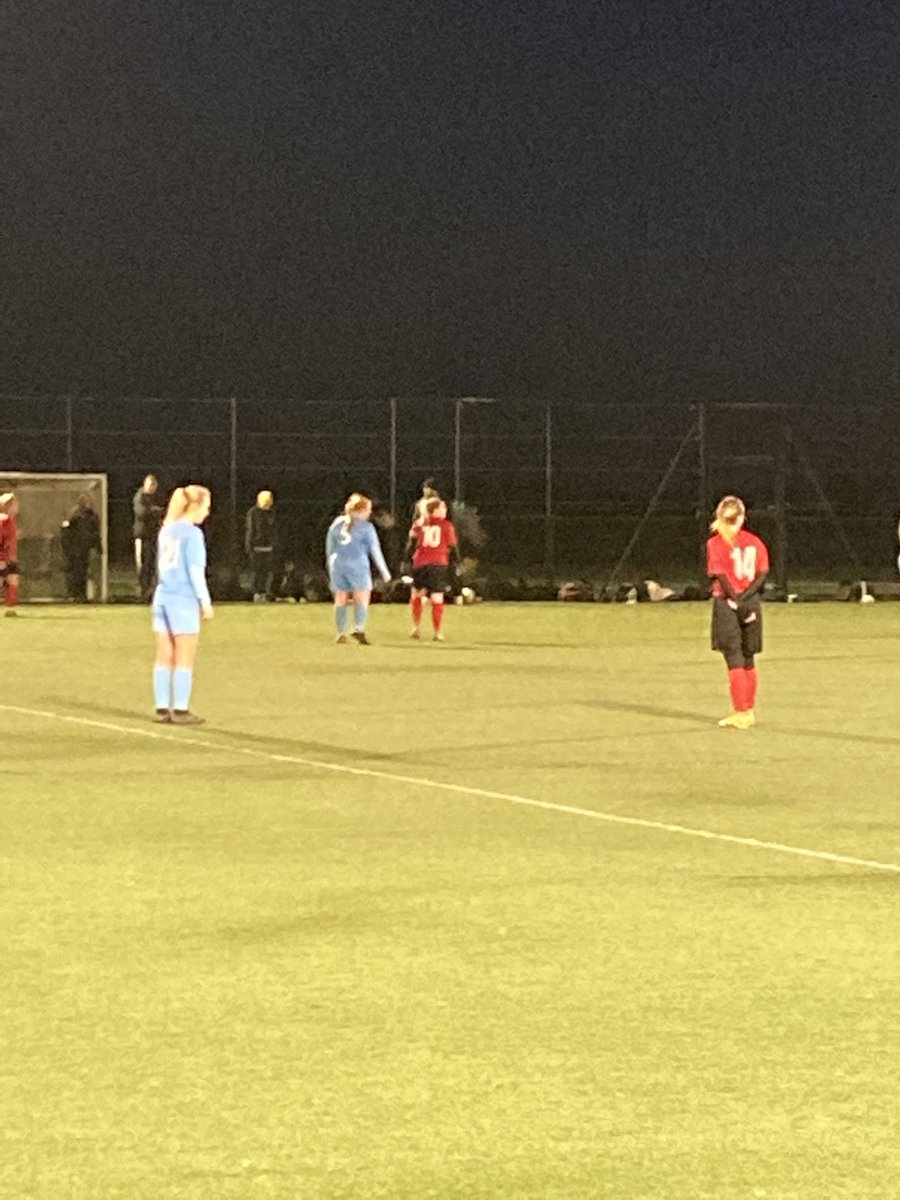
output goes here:
[[193, 664], [200, 641], [200, 616], [212, 617], [206, 587], [206, 542], [198, 526], [209, 516], [208, 487], [188, 484], [172, 493], [160, 530], [154, 593], [156, 635], [154, 694], [156, 720], [167, 725], [202, 725], [191, 712]]

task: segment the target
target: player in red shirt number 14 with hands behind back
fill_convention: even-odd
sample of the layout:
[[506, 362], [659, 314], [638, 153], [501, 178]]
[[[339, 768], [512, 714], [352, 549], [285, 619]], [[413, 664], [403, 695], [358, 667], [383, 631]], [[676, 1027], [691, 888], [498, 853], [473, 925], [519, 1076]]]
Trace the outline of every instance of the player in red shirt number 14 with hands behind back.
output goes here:
[[713, 649], [728, 667], [732, 712], [719, 721], [724, 728], [756, 725], [756, 666], [762, 650], [760, 592], [769, 572], [766, 544], [744, 529], [746, 509], [737, 496], [719, 500], [713, 536], [707, 541], [707, 574], [713, 582]]

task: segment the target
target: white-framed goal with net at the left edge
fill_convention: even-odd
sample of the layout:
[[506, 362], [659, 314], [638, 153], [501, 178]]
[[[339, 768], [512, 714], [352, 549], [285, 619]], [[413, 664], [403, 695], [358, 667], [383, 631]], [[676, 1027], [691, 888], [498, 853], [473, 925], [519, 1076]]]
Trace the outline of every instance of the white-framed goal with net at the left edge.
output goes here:
[[62, 523], [82, 496], [90, 499], [100, 517], [100, 554], [91, 553], [88, 596], [106, 600], [109, 586], [107, 546], [107, 476], [42, 475], [0, 470], [0, 492], [14, 492], [19, 500], [19, 575], [23, 600], [67, 599]]

